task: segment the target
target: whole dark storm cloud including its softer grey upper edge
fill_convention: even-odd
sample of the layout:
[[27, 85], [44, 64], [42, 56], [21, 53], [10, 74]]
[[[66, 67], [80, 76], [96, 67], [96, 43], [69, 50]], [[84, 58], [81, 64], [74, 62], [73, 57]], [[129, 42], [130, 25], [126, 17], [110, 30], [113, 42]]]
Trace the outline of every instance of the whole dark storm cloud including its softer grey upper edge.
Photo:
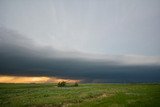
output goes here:
[[55, 76], [82, 82], [159, 82], [160, 58], [109, 56], [38, 46], [0, 28], [0, 75]]

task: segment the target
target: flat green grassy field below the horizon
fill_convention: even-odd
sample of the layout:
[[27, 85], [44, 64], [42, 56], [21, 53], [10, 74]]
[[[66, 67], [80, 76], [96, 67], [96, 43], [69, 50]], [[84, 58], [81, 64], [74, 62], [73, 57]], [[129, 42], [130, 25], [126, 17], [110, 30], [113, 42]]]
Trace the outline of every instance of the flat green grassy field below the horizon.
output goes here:
[[0, 107], [160, 107], [160, 84], [0, 84]]

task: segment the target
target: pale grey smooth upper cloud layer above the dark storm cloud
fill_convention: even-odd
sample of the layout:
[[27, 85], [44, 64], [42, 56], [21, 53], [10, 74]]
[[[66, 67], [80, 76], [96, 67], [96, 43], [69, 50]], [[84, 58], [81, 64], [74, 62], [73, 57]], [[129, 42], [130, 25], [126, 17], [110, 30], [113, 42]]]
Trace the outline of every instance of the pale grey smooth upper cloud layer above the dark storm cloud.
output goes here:
[[0, 0], [0, 26], [40, 46], [160, 55], [160, 0]]

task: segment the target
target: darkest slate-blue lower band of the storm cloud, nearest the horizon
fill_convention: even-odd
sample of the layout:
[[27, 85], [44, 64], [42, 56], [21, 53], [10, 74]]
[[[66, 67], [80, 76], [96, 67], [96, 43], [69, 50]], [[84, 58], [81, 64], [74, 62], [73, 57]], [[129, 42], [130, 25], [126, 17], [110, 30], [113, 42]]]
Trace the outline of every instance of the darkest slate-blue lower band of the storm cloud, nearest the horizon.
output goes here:
[[101, 66], [69, 59], [0, 59], [0, 73], [5, 75], [55, 76], [83, 82], [160, 82], [159, 66]]

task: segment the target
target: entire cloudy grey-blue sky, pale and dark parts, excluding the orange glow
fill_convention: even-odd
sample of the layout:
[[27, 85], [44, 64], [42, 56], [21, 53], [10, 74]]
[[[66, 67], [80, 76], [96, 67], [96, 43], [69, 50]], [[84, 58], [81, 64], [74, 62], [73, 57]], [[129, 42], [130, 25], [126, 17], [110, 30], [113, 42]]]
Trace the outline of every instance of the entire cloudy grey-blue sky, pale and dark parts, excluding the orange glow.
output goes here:
[[159, 19], [159, 0], [0, 0], [0, 75], [160, 82]]

